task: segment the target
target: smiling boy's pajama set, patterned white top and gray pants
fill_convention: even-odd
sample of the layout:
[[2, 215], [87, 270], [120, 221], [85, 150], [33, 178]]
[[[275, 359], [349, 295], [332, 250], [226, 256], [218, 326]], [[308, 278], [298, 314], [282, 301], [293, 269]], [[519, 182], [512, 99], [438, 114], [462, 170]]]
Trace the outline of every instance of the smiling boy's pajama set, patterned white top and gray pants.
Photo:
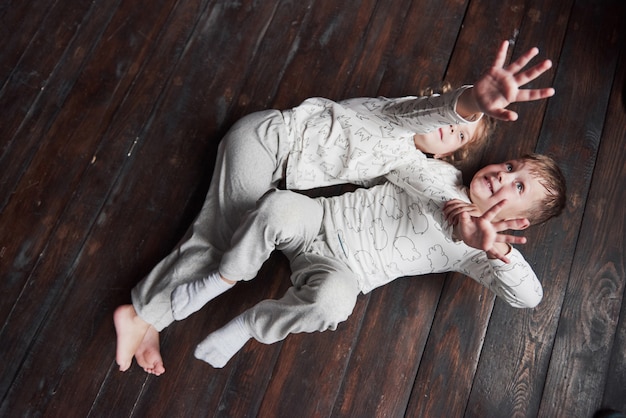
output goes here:
[[281, 299], [242, 314], [256, 340], [270, 344], [290, 333], [334, 330], [359, 293], [405, 276], [457, 271], [513, 307], [541, 301], [541, 283], [519, 251], [505, 264], [452, 239], [443, 205], [451, 198], [469, 202], [456, 169], [424, 159], [387, 177], [382, 185], [332, 198], [275, 191], [245, 218], [223, 256], [222, 275], [251, 280], [274, 249], [287, 255], [293, 272], [294, 286]]

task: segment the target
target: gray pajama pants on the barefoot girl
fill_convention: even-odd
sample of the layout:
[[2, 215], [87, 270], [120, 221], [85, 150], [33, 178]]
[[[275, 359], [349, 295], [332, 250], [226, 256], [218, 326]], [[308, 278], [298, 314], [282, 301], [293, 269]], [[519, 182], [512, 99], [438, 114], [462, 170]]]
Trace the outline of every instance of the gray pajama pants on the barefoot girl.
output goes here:
[[277, 110], [253, 113], [233, 125], [219, 145], [200, 214], [176, 248], [131, 292], [142, 319], [158, 331], [174, 321], [172, 290], [217, 269], [246, 212], [282, 179], [289, 148]]

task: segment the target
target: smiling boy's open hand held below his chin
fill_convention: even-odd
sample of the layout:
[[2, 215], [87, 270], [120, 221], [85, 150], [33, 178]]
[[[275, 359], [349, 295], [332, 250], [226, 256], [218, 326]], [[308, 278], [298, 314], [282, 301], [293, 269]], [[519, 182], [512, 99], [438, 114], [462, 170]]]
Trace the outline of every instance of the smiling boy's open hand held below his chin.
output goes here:
[[509, 263], [506, 257], [510, 250], [508, 244], [525, 244], [526, 238], [501, 232], [526, 229], [529, 222], [525, 218], [494, 221], [505, 203], [506, 200], [501, 200], [481, 215], [474, 205], [455, 199], [446, 203], [443, 212], [454, 226], [455, 235], [465, 244], [485, 251], [489, 258]]

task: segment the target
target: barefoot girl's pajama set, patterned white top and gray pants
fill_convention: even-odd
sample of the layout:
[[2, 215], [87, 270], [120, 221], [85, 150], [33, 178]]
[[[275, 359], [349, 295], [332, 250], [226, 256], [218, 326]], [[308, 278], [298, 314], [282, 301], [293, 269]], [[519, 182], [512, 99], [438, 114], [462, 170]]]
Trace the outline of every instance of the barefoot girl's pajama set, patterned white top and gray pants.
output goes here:
[[312, 98], [290, 110], [242, 118], [220, 143], [197, 218], [174, 250], [133, 288], [139, 316], [158, 331], [173, 322], [172, 290], [214, 271], [243, 216], [281, 181], [294, 190], [372, 185], [394, 168], [424, 159], [413, 142], [416, 133], [475, 122], [455, 111], [466, 88], [430, 97]]

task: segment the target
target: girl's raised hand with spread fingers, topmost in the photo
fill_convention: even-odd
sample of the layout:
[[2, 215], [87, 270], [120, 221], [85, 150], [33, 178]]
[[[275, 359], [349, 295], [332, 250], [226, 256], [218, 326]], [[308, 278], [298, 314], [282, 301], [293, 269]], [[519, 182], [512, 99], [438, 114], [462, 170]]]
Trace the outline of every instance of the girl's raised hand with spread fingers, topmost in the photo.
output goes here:
[[554, 95], [553, 88], [520, 89], [521, 86], [550, 69], [552, 62], [544, 60], [521, 71], [539, 53], [537, 48], [532, 48], [505, 67], [508, 47], [508, 41], [502, 42], [493, 65], [474, 84], [473, 88], [461, 94], [456, 108], [459, 115], [468, 118], [482, 112], [495, 119], [514, 121], [517, 120], [517, 113], [506, 109], [511, 103], [540, 100]]

